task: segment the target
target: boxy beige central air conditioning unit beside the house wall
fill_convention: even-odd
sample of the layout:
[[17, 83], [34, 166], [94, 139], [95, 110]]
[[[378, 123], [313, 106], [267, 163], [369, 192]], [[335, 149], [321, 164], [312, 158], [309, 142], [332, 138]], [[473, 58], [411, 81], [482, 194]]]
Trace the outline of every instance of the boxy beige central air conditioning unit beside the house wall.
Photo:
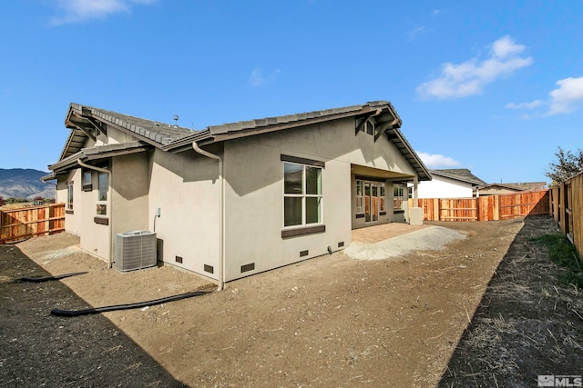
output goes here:
[[116, 269], [134, 271], [157, 264], [156, 233], [133, 231], [116, 235]]

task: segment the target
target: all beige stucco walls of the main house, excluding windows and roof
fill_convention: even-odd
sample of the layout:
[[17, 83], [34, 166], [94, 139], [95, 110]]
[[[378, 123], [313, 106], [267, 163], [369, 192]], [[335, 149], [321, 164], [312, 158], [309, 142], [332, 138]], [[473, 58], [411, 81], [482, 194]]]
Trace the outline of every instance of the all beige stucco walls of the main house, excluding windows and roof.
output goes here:
[[[113, 138], [97, 144], [134, 141], [115, 128]], [[87, 144], [88, 145], [88, 144]], [[376, 178], [392, 172], [394, 179], [414, 176], [414, 169], [384, 136], [374, 142], [369, 134], [354, 134], [354, 120], [314, 124], [301, 129], [234, 139], [224, 150], [225, 175], [225, 279], [256, 274], [292, 264], [351, 244], [355, 209], [354, 166], [365, 166]], [[283, 229], [283, 164], [281, 154], [325, 163], [322, 174], [323, 233], [281, 237]], [[219, 279], [220, 173], [219, 163], [186, 151], [169, 154], [159, 149], [113, 158], [108, 193], [109, 225], [96, 224], [97, 172], [94, 189], [81, 191], [81, 170], [75, 170], [75, 214], [67, 218], [69, 232], [81, 235], [81, 247], [109, 261], [115, 234], [132, 230], [154, 231], [159, 258], [190, 271]], [[372, 176], [372, 175], [371, 175]], [[394, 221], [393, 183], [386, 179], [386, 215]], [[62, 197], [62, 199], [61, 199]], [[59, 181], [57, 198], [66, 202], [66, 185]], [[160, 216], [155, 218], [157, 209]], [[115, 214], [115, 218], [111, 214]], [[154, 225], [155, 221], [155, 225]], [[343, 243], [343, 247], [339, 246]], [[309, 254], [300, 256], [300, 252]], [[115, 251], [113, 251], [115, 252]], [[180, 257], [182, 263], [177, 262]], [[240, 266], [255, 264], [241, 274]], [[211, 274], [205, 265], [214, 269]]]

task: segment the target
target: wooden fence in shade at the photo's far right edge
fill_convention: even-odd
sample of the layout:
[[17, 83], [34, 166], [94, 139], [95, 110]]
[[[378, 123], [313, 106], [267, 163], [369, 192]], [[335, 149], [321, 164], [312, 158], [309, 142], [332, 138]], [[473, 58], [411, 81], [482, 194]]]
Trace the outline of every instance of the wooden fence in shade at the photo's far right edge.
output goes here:
[[583, 258], [583, 172], [550, 188], [551, 214]]

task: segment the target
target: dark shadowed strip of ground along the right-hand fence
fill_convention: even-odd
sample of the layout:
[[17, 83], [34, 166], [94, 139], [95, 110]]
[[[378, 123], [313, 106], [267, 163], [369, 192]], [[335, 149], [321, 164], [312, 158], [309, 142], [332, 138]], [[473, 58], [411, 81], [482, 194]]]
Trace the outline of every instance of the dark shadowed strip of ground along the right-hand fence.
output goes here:
[[530, 387], [538, 375], [583, 374], [581, 291], [557, 281], [561, 269], [531, 240], [551, 233], [551, 217], [525, 218], [440, 387]]

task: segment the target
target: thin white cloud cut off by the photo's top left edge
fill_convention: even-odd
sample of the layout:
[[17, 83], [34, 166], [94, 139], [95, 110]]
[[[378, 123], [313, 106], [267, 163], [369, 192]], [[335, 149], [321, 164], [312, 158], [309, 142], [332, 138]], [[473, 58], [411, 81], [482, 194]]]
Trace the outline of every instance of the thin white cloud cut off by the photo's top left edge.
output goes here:
[[63, 15], [51, 19], [53, 25], [81, 23], [107, 15], [129, 12], [133, 5], [148, 5], [156, 0], [56, 0]]

